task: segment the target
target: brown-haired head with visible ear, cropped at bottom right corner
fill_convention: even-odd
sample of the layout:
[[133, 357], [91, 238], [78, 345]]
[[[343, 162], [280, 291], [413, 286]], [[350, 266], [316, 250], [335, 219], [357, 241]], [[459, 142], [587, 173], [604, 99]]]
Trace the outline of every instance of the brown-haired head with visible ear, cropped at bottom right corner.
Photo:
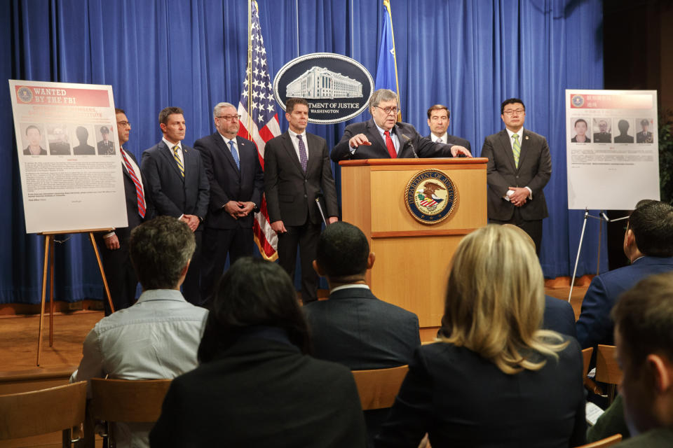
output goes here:
[[639, 281], [611, 315], [632, 435], [618, 446], [673, 447], [673, 273]]

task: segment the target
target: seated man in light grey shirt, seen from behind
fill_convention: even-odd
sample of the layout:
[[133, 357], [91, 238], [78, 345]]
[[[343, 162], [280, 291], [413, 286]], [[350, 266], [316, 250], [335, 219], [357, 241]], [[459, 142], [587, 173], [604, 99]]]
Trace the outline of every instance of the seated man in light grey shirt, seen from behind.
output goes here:
[[[130, 258], [143, 293], [102, 318], [84, 341], [71, 382], [106, 375], [116, 379], [174, 378], [196, 367], [208, 311], [184, 300], [180, 285], [194, 252], [189, 226], [161, 216], [132, 230]], [[151, 423], [117, 423], [117, 447], [149, 447]]]

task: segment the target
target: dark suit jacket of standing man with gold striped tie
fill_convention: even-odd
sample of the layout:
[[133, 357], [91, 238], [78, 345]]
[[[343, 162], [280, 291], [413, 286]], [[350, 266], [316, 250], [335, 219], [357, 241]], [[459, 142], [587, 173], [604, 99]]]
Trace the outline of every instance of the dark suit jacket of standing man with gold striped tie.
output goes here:
[[145, 197], [149, 193], [157, 216], [186, 214], [203, 219], [208, 211], [208, 177], [198, 151], [182, 144], [182, 156], [184, 178], [163, 140], [142, 153]]

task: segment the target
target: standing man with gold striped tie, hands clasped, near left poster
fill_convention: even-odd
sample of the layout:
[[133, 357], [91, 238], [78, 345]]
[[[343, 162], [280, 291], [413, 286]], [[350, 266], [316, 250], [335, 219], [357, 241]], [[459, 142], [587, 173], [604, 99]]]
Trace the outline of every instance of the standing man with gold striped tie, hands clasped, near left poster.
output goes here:
[[[184, 279], [182, 293], [192, 304], [201, 304], [200, 223], [208, 211], [208, 177], [198, 151], [182, 144], [185, 123], [182, 109], [167, 107], [159, 113], [163, 139], [142, 153], [140, 169], [147, 180], [147, 190], [157, 215], [174, 216], [194, 232], [196, 251]], [[146, 191], [147, 193], [147, 191]]]

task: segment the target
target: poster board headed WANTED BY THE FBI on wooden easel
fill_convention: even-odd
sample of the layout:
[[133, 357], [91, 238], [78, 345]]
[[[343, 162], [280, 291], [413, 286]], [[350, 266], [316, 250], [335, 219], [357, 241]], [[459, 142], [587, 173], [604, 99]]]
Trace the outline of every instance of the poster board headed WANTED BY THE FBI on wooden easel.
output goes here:
[[127, 227], [112, 87], [9, 80], [26, 232]]

